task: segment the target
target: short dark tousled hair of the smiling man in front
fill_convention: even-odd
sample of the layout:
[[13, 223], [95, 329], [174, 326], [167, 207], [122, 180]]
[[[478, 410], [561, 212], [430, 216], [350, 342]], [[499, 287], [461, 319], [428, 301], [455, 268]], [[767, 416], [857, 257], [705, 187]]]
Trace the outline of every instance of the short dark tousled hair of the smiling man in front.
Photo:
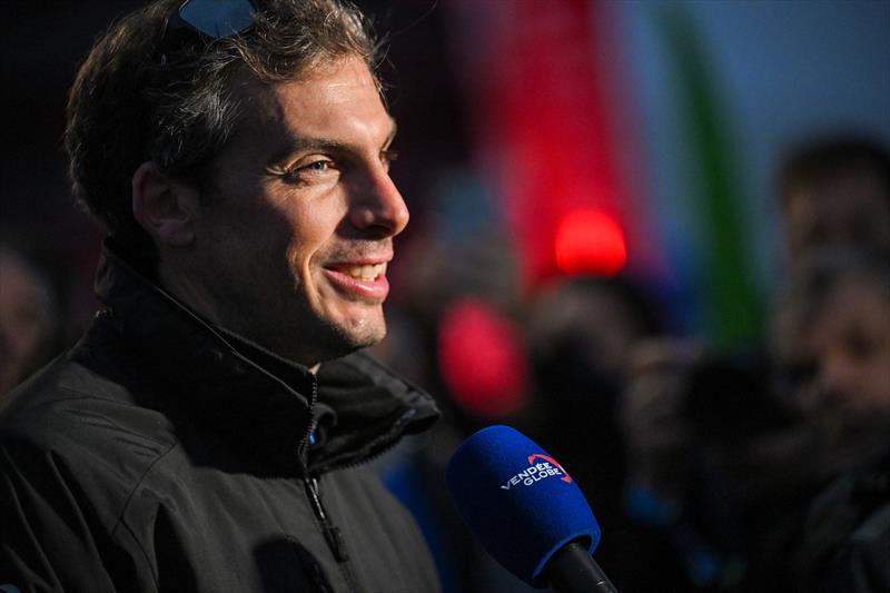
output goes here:
[[229, 89], [236, 72], [275, 83], [354, 55], [377, 80], [378, 46], [350, 4], [255, 0], [246, 32], [214, 41], [195, 32], [194, 42], [162, 49], [181, 2], [157, 0], [113, 24], [80, 67], [68, 100], [75, 195], [109, 235], [151, 255], [132, 216], [132, 175], [152, 160], [170, 177], [201, 186], [244, 108]]

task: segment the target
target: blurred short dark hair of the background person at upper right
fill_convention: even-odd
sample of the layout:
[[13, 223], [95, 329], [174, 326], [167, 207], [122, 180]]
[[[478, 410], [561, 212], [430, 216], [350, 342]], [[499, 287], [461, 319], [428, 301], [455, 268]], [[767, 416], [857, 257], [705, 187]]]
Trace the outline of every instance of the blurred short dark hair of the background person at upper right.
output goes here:
[[788, 151], [778, 171], [782, 205], [794, 189], [850, 171], [869, 171], [881, 179], [890, 204], [890, 154], [877, 139], [860, 134], [827, 134]]

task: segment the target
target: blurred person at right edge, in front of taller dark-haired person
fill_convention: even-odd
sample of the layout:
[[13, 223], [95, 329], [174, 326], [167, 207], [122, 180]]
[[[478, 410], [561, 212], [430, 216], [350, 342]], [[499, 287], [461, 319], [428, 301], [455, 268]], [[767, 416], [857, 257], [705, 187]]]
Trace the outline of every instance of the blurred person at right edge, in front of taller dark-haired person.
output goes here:
[[772, 345], [837, 478], [809, 508], [795, 590], [890, 591], [890, 263], [819, 253], [781, 295]]

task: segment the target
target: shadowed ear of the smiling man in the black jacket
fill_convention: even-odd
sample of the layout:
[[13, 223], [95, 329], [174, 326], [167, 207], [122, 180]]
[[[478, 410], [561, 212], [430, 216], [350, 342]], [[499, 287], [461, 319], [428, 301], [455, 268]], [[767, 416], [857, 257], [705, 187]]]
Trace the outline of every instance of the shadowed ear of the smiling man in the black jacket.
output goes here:
[[132, 215], [158, 245], [187, 247], [195, 240], [195, 216], [200, 196], [170, 179], [152, 161], [132, 176]]

